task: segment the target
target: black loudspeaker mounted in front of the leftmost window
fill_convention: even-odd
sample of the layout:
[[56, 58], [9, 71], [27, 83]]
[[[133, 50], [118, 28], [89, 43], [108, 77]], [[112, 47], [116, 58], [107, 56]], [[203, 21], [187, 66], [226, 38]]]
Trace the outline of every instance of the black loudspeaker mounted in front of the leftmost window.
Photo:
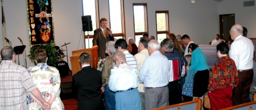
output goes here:
[[93, 31], [92, 18], [90, 15], [82, 16], [82, 31]]

